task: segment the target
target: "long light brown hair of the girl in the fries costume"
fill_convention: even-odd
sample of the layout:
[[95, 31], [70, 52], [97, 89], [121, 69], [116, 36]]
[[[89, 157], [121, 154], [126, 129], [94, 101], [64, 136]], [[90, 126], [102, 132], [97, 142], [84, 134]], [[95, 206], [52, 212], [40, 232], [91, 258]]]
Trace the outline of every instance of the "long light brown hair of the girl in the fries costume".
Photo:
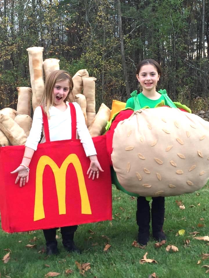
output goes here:
[[45, 87], [44, 87], [44, 94], [42, 96], [42, 100], [40, 105], [43, 106], [43, 109], [46, 113], [46, 115], [49, 117], [49, 109], [53, 106], [54, 100], [53, 100], [53, 89], [55, 83], [62, 81], [62, 80], [68, 80], [69, 81], [69, 93], [67, 94], [66, 98], [64, 99], [64, 102], [68, 100], [69, 95], [72, 93], [73, 90], [73, 80], [70, 76], [70, 74], [62, 69], [55, 70], [49, 74], [48, 78], [46, 79]]

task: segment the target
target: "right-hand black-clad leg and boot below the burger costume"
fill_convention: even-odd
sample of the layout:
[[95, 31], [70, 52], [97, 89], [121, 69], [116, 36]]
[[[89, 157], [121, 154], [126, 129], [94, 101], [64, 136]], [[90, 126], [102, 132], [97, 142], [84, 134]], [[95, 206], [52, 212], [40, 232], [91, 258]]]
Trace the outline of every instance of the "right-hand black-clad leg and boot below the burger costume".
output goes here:
[[165, 217], [165, 197], [152, 198], [152, 235], [157, 241], [166, 239], [163, 232], [163, 223]]

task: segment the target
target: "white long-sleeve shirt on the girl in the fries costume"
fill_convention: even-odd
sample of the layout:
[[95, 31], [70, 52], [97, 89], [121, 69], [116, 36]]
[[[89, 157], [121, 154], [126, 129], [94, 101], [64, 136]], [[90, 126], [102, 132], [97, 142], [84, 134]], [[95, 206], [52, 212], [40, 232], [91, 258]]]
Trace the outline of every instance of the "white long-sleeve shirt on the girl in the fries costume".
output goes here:
[[[55, 106], [52, 106], [49, 109], [50, 119], [48, 119], [48, 125], [50, 141], [68, 140], [72, 138], [71, 111], [67, 101], [66, 105], [67, 109], [65, 111], [60, 111]], [[96, 149], [85, 124], [84, 115], [82, 113], [80, 105], [75, 102], [73, 103], [73, 105], [75, 106], [76, 111], [77, 132], [86, 156], [96, 155]], [[33, 114], [33, 123], [25, 146], [36, 151], [37, 145], [41, 139], [42, 130], [44, 136], [41, 140], [41, 143], [44, 143], [46, 142], [46, 138], [43, 127], [42, 109], [40, 106], [38, 106]]]

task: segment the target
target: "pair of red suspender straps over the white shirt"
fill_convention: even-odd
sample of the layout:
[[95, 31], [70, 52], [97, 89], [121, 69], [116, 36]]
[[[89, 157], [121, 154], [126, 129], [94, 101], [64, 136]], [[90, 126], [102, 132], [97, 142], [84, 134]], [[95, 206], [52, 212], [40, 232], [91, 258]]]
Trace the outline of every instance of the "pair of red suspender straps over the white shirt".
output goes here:
[[[76, 111], [75, 111], [75, 106], [73, 103], [69, 103], [70, 106], [70, 111], [71, 111], [71, 131], [72, 131], [72, 140], [76, 139]], [[43, 106], [41, 106], [42, 109], [42, 115], [43, 115], [43, 124], [44, 124], [44, 133], [45, 133], [45, 138], [46, 142], [50, 142], [50, 137], [49, 137], [49, 128], [48, 128], [48, 118], [46, 113], [44, 112]]]

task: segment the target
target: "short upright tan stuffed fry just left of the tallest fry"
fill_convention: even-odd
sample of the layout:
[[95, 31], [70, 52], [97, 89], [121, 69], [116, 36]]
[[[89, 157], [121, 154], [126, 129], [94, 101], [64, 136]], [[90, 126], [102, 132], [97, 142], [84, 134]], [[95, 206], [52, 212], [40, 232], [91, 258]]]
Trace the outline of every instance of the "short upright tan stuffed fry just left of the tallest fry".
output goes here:
[[17, 87], [17, 91], [18, 91], [17, 115], [26, 114], [30, 116], [32, 89], [29, 87]]

